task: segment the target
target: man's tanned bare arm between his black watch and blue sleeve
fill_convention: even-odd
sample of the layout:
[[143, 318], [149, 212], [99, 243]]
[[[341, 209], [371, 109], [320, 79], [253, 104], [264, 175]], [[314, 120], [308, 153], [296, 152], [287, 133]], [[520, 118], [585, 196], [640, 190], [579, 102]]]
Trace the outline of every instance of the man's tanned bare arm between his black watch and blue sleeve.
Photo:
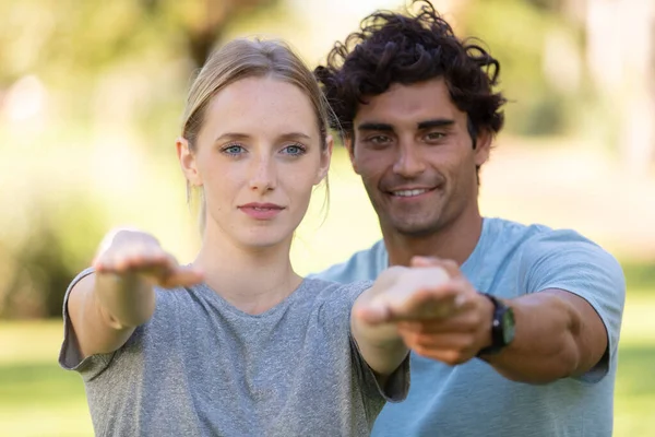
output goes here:
[[[605, 347], [598, 345], [597, 323], [602, 322], [584, 319], [579, 307], [588, 304], [582, 298], [563, 291], [545, 291], [507, 303], [514, 311], [514, 341], [501, 353], [483, 358], [508, 379], [547, 383], [583, 374], [603, 356], [607, 342], [605, 339]], [[597, 315], [587, 319], [594, 317]]]

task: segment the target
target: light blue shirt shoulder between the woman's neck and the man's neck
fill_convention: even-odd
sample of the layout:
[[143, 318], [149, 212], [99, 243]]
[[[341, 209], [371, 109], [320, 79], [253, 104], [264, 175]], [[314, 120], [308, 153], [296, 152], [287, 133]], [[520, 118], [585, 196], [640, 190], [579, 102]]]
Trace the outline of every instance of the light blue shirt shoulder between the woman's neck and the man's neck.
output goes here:
[[380, 272], [389, 265], [389, 256], [384, 241], [379, 240], [370, 248], [353, 255], [347, 261], [310, 275], [310, 277], [349, 283], [356, 281], [374, 281]]

